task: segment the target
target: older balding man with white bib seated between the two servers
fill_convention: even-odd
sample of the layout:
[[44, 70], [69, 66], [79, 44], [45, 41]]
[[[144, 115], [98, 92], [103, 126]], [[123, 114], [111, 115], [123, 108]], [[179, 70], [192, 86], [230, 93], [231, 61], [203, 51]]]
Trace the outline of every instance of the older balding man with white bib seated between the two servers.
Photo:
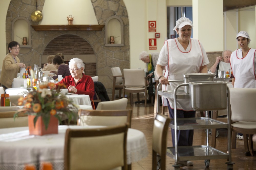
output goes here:
[[[229, 72], [229, 70], [231, 70], [231, 66], [230, 66], [231, 53], [232, 53], [232, 51], [226, 50], [226, 51], [222, 52], [222, 57], [221, 56], [216, 57], [216, 62], [210, 68], [211, 72], [216, 74], [216, 77], [218, 77], [219, 70], [225, 70], [228, 72]], [[223, 60], [223, 62], [222, 62], [222, 60]]]

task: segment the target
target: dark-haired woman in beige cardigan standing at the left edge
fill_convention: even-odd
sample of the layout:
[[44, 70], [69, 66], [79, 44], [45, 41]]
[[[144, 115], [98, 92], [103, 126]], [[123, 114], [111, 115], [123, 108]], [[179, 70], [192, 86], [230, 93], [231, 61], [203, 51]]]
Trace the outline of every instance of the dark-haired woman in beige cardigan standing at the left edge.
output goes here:
[[4, 57], [1, 71], [0, 83], [6, 88], [11, 88], [13, 79], [17, 77], [20, 68], [26, 67], [24, 63], [20, 63], [17, 55], [19, 54], [19, 43], [12, 41], [8, 44], [9, 53]]

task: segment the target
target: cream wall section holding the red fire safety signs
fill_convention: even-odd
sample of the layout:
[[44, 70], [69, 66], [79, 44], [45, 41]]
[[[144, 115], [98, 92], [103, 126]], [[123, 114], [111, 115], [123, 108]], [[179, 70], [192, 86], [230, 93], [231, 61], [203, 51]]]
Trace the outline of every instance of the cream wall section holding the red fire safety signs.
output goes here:
[[[146, 68], [139, 60], [142, 51], [148, 53], [160, 52], [167, 37], [166, 1], [165, 0], [124, 0], [130, 31], [130, 66], [132, 69]], [[136, 4], [136, 5], [134, 5]], [[155, 33], [148, 32], [148, 21], [156, 21], [157, 50], [149, 50], [149, 39], [155, 38]]]

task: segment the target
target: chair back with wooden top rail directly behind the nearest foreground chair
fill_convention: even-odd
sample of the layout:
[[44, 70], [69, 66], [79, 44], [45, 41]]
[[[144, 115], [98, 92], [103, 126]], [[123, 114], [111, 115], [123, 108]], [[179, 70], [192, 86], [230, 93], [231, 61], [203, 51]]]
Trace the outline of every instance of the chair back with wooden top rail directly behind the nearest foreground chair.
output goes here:
[[131, 128], [132, 110], [82, 110], [78, 111], [77, 125], [117, 126], [127, 123]]

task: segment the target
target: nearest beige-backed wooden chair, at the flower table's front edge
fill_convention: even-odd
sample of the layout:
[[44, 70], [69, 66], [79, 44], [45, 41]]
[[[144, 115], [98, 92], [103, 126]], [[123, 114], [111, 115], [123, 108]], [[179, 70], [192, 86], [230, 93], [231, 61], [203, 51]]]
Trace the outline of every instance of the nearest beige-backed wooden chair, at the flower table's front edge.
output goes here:
[[64, 169], [127, 169], [128, 125], [95, 129], [67, 129]]

